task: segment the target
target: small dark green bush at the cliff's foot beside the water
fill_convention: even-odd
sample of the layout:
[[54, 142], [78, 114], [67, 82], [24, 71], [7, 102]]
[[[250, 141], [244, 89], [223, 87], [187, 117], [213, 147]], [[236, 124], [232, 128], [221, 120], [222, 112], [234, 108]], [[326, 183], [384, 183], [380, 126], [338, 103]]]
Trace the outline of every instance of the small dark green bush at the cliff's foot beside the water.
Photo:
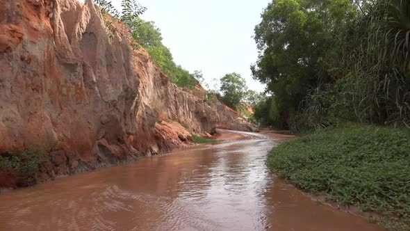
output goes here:
[[35, 148], [17, 154], [4, 152], [0, 154], [0, 172], [5, 170], [15, 172], [16, 177], [19, 177], [24, 184], [31, 185], [35, 183], [35, 174], [45, 161], [44, 152]]

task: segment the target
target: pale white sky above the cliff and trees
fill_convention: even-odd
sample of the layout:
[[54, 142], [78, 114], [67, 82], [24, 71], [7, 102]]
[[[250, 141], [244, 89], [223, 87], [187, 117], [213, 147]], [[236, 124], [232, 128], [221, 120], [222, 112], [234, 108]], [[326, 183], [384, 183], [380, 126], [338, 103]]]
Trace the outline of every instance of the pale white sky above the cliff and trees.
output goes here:
[[[81, 0], [80, 0], [81, 1]], [[174, 61], [190, 72], [202, 70], [211, 79], [238, 72], [249, 89], [263, 91], [249, 69], [258, 56], [254, 26], [270, 0], [140, 0], [147, 11], [141, 15], [161, 29], [163, 44]], [[112, 0], [118, 10], [121, 0]]]

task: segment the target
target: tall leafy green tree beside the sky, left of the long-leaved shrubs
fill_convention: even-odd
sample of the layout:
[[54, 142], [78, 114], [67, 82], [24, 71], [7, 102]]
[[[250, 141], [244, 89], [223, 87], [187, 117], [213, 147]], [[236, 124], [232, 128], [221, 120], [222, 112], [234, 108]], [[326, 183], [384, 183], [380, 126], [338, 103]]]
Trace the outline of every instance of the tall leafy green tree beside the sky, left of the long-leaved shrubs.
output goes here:
[[296, 112], [306, 92], [329, 81], [328, 63], [338, 26], [354, 8], [349, 0], [274, 0], [255, 27], [259, 59], [254, 79], [268, 84], [279, 110]]

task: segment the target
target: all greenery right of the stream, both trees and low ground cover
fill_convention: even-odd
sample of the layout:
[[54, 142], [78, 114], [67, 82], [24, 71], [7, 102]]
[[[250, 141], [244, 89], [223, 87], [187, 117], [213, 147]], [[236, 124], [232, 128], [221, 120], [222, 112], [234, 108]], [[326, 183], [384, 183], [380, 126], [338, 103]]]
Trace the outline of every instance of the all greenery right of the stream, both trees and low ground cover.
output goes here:
[[274, 0], [261, 17], [251, 70], [270, 96], [254, 117], [306, 134], [274, 148], [268, 166], [408, 230], [410, 1]]

